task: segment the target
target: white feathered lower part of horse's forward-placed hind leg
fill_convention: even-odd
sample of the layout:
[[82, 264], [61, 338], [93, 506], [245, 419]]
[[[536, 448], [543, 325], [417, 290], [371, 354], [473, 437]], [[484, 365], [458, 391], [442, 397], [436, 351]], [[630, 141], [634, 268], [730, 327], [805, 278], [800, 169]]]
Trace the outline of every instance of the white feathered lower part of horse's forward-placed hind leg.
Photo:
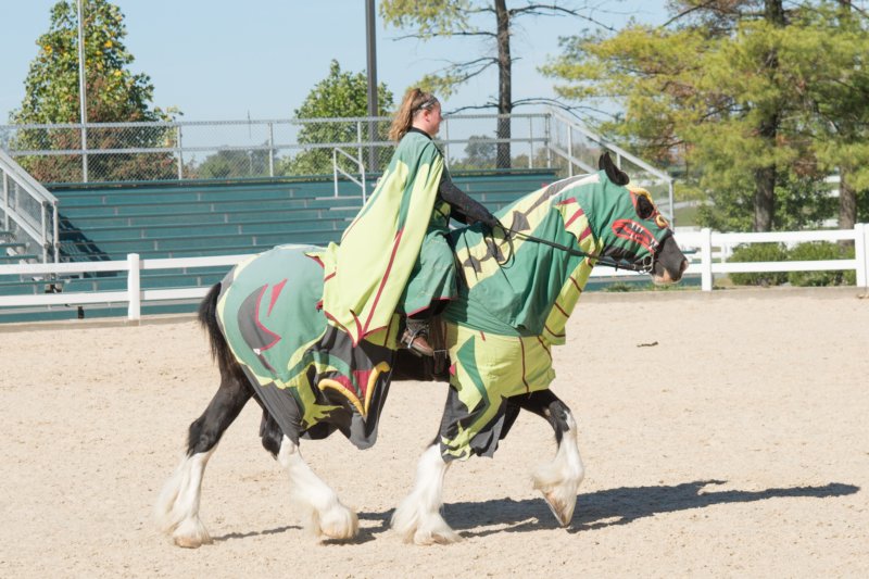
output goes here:
[[307, 466], [299, 446], [286, 436], [280, 440], [277, 461], [289, 476], [291, 496], [310, 511], [310, 529], [316, 537], [344, 540], [356, 536], [356, 513], [341, 503], [336, 492]]

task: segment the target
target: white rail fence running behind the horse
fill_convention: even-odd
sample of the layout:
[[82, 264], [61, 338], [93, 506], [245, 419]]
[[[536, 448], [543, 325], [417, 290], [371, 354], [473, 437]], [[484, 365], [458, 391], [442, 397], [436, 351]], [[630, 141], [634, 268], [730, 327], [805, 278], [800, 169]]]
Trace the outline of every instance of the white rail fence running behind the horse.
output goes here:
[[[869, 226], [857, 224], [854, 229], [821, 231], [780, 231], [770, 234], [719, 234], [709, 229], [679, 232], [679, 246], [689, 251], [692, 257], [687, 274], [701, 275], [701, 289], [711, 291], [716, 274], [758, 273], [758, 272], [822, 272], [855, 270], [857, 287], [869, 290]], [[855, 246], [854, 259], [826, 261], [784, 261], [784, 262], [730, 262], [726, 261], [730, 248], [743, 243], [804, 243], [810, 241], [852, 240]], [[717, 248], [717, 251], [715, 251]], [[171, 300], [193, 300], [205, 295], [209, 288], [189, 287], [174, 289], [141, 289], [141, 272], [149, 269], [191, 269], [197, 267], [232, 266], [248, 255], [219, 255], [212, 257], [179, 257], [161, 260], [140, 260], [131, 253], [127, 260], [108, 262], [81, 262], [61, 264], [0, 265], [0, 276], [34, 277], [49, 275], [74, 275], [100, 272], [126, 272], [125, 291], [92, 291], [75, 293], [46, 293], [39, 295], [0, 295], [0, 307], [28, 306], [70, 306], [86, 304], [127, 304], [127, 318], [136, 322], [141, 318], [141, 306], [146, 302]], [[718, 261], [716, 261], [718, 260]], [[625, 270], [610, 270], [597, 267], [594, 277], [637, 276]]]

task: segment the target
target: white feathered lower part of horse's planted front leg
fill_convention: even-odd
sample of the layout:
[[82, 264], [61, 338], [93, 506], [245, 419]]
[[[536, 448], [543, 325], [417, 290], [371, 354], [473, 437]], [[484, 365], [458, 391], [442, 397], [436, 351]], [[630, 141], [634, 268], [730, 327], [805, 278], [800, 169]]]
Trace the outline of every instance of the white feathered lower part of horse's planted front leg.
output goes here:
[[462, 540], [440, 514], [443, 505], [443, 477], [449, 467], [450, 463], [444, 462], [437, 441], [420, 456], [414, 489], [392, 515], [392, 528], [405, 542], [428, 545]]

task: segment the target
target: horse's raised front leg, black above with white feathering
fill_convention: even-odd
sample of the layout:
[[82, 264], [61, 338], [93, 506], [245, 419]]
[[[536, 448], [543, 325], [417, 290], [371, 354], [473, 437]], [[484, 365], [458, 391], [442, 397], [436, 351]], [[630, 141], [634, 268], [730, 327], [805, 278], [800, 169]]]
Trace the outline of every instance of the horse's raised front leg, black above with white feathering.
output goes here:
[[546, 504], [563, 527], [570, 524], [577, 504], [577, 489], [584, 470], [577, 444], [577, 424], [570, 408], [550, 390], [515, 397], [512, 402], [544, 417], [553, 430], [558, 451], [552, 462], [534, 470], [534, 488], [543, 493]]

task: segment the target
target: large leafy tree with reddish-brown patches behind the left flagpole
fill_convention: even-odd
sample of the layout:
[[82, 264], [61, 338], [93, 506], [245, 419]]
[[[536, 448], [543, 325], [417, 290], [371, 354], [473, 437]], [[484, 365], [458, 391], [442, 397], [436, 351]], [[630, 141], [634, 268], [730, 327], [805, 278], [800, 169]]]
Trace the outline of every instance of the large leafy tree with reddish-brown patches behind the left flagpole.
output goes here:
[[[84, 2], [85, 78], [88, 123], [171, 121], [173, 110], [151, 108], [154, 87], [146, 74], [134, 74], [134, 56], [127, 51], [124, 15], [106, 0]], [[79, 123], [78, 15], [73, 1], [60, 1], [51, 9], [48, 33], [37, 39], [39, 53], [30, 63], [25, 79], [25, 97], [12, 111], [10, 123]], [[88, 149], [172, 147], [174, 133], [167, 127], [140, 130], [92, 128]], [[78, 149], [78, 129], [23, 129], [12, 146], [18, 150]], [[24, 158], [36, 178], [47, 181], [80, 180], [81, 160], [71, 156]], [[173, 158], [166, 153], [148, 155], [97, 154], [88, 158], [89, 173], [97, 179], [124, 180], [171, 178]]]

